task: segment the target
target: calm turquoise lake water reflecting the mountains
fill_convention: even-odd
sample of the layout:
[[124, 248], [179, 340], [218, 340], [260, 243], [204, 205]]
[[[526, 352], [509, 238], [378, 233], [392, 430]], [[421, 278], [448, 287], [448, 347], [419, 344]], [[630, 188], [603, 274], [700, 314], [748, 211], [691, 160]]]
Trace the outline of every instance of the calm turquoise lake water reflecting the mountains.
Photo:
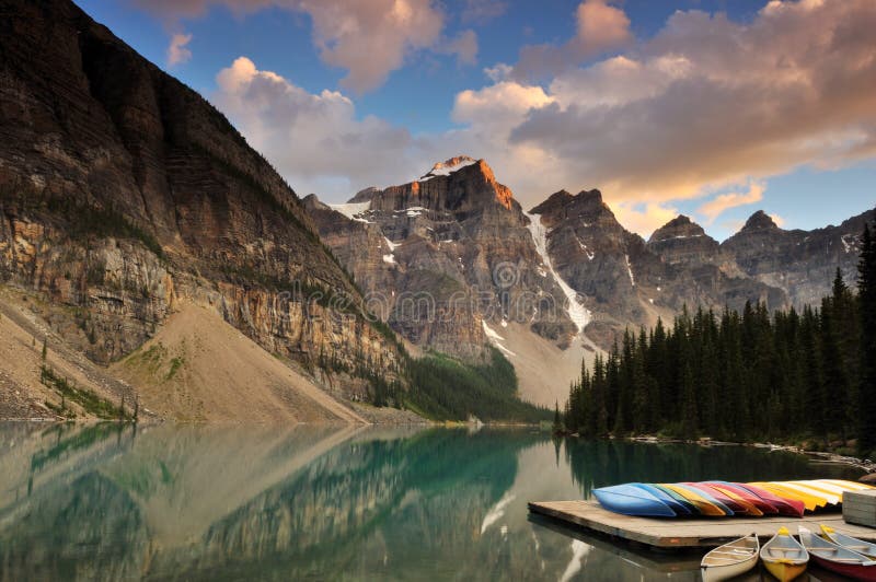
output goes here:
[[2, 580], [695, 580], [530, 500], [630, 480], [851, 477], [735, 446], [530, 430], [0, 423]]

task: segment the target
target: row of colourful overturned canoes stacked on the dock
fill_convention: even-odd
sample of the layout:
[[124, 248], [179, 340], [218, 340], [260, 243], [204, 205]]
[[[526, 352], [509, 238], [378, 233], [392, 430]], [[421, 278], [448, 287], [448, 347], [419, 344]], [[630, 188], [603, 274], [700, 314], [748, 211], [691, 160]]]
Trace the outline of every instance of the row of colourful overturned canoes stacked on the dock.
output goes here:
[[873, 487], [840, 479], [799, 481], [631, 482], [593, 489], [600, 504], [615, 513], [643, 517], [724, 517], [804, 513], [842, 503], [845, 491]]

